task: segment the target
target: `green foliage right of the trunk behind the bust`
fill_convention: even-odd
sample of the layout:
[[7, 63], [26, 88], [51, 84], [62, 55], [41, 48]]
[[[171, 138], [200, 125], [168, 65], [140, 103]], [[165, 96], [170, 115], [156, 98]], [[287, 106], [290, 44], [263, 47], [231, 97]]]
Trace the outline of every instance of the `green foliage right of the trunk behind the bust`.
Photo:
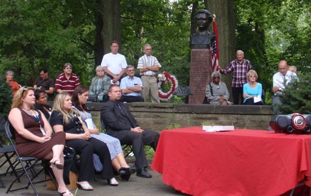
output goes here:
[[272, 76], [280, 60], [310, 72], [310, 1], [238, 0], [237, 48], [245, 52], [258, 81], [272, 94]]

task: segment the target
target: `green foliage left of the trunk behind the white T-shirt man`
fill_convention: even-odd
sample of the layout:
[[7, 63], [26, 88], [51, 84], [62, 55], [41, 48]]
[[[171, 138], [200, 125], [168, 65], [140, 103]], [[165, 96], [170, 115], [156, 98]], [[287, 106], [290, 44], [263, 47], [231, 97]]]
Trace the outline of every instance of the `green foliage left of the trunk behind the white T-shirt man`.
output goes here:
[[93, 68], [88, 59], [93, 50], [81, 40], [92, 30], [91, 21], [83, 23], [86, 16], [74, 12], [79, 3], [67, 6], [66, 1], [1, 1], [0, 71], [10, 69], [20, 84], [32, 86], [39, 68], [48, 68], [55, 78], [71, 62], [82, 81], [88, 80], [84, 73]]

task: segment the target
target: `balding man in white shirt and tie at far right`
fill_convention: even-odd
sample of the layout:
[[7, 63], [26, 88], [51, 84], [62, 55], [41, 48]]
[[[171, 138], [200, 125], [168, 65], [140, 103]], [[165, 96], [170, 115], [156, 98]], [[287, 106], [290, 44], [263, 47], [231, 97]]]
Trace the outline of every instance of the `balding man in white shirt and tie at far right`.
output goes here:
[[275, 114], [280, 114], [278, 106], [282, 105], [279, 95], [284, 93], [285, 87], [294, 79], [297, 79], [296, 73], [288, 70], [288, 62], [281, 60], [279, 62], [279, 72], [273, 75], [274, 96], [272, 97], [272, 107]]

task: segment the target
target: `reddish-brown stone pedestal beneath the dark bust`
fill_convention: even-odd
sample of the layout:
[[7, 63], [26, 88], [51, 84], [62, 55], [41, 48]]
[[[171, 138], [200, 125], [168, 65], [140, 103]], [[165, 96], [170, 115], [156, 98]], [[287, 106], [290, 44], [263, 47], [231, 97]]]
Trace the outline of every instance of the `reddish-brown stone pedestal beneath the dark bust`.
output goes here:
[[190, 65], [190, 88], [194, 92], [189, 103], [201, 104], [205, 98], [206, 85], [211, 82], [211, 51], [192, 49]]

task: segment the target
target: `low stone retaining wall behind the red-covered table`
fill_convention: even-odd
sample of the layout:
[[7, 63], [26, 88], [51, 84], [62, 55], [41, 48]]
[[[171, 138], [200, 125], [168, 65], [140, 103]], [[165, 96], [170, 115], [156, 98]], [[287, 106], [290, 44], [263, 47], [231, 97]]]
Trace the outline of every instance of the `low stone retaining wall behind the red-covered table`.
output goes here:
[[[102, 103], [88, 103], [95, 124], [100, 127]], [[174, 127], [234, 125], [236, 128], [266, 130], [273, 115], [270, 105], [201, 105], [171, 103], [129, 103], [131, 114], [143, 129], [167, 130]]]

